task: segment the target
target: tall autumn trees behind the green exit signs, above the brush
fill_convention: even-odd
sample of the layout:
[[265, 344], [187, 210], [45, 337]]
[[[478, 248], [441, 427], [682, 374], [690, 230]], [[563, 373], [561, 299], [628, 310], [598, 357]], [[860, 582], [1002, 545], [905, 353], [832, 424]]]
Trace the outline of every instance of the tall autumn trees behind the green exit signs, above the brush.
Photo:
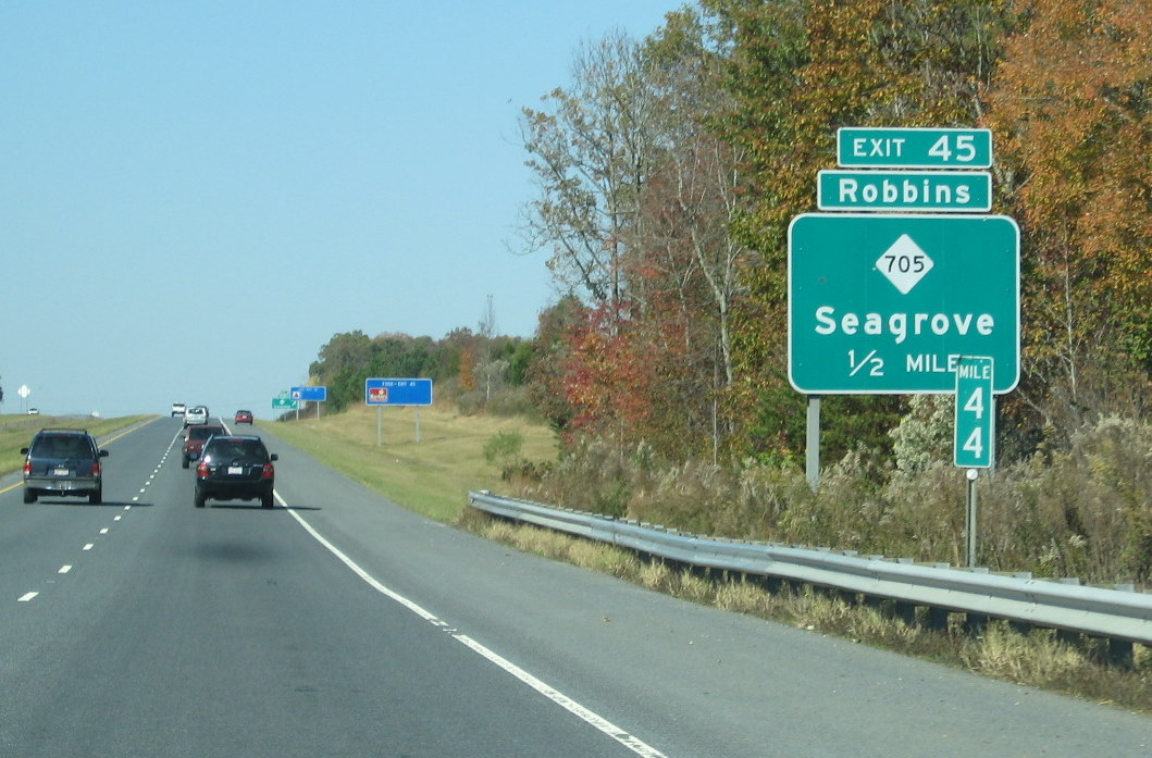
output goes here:
[[[1152, 369], [1152, 5], [702, 0], [586, 44], [523, 112], [524, 215], [573, 294], [537, 381], [575, 435], [679, 458], [795, 461], [787, 228], [839, 127], [985, 127], [1022, 229], [1022, 381], [999, 449], [1142, 415]], [[904, 396], [825, 403], [827, 455], [892, 452]]]

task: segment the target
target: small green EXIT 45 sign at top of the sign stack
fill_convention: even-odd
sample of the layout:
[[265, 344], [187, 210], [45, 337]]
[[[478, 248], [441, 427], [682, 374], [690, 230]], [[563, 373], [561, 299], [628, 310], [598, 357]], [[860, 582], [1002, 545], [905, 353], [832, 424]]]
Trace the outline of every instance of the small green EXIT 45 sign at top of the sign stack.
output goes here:
[[836, 162], [846, 168], [991, 168], [991, 129], [843, 127]]

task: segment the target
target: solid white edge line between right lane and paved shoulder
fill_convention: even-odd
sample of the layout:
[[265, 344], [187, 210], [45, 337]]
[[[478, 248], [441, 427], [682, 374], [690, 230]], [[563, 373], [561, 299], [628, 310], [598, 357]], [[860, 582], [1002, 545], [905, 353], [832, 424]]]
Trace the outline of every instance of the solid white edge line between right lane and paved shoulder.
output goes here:
[[629, 750], [631, 750], [637, 756], [643, 756], [643, 758], [667, 758], [667, 756], [665, 756], [662, 752], [660, 752], [659, 750], [657, 750], [652, 745], [650, 745], [650, 744], [643, 742], [642, 740], [639, 740], [638, 737], [635, 737], [631, 734], [624, 732], [623, 729], [621, 729], [616, 725], [612, 723], [607, 719], [605, 719], [605, 718], [600, 717], [599, 714], [594, 713], [593, 711], [590, 711], [589, 708], [584, 707], [583, 705], [581, 705], [576, 700], [571, 699], [570, 697], [568, 697], [563, 692], [561, 692], [561, 691], [556, 690], [555, 688], [548, 685], [546, 682], [543, 682], [539, 679], [532, 676], [531, 674], [529, 674], [528, 672], [525, 672], [520, 666], [516, 666], [510, 660], [500, 657], [499, 654], [497, 654], [492, 650], [488, 650], [487, 647], [485, 647], [480, 643], [476, 642], [471, 637], [468, 637], [467, 635], [458, 634], [455, 629], [449, 629], [448, 624], [446, 622], [444, 622], [440, 619], [435, 617], [434, 615], [432, 615], [431, 613], [429, 613], [427, 611], [425, 611], [424, 608], [422, 608], [417, 604], [412, 602], [411, 600], [409, 600], [404, 596], [399, 594], [399, 593], [389, 590], [388, 588], [386, 588], [384, 584], [381, 584], [380, 582], [378, 582], [371, 574], [369, 574], [367, 571], [365, 571], [364, 569], [362, 569], [355, 561], [353, 561], [350, 558], [348, 558], [342, 552], [340, 552], [340, 548], [338, 548], [335, 545], [333, 545], [327, 539], [325, 539], [324, 536], [320, 535], [320, 532], [316, 531], [316, 529], [312, 528], [312, 524], [310, 524], [306, 521], [304, 521], [303, 516], [301, 516], [295, 510], [293, 510], [291, 508], [289, 508], [288, 503], [285, 502], [285, 499], [280, 497], [279, 492], [276, 492], [274, 494], [276, 497], [276, 500], [280, 501], [280, 505], [283, 506], [285, 508], [288, 508], [288, 513], [291, 514], [291, 517], [295, 518], [297, 522], [300, 522], [300, 525], [304, 528], [304, 531], [306, 531], [309, 535], [311, 535], [312, 538], [316, 541], [320, 543], [326, 548], [328, 548], [328, 552], [331, 552], [333, 555], [335, 555], [338, 559], [340, 559], [340, 561], [344, 566], [347, 566], [349, 569], [351, 569], [353, 574], [355, 574], [356, 576], [361, 577], [373, 590], [376, 590], [380, 594], [384, 594], [385, 597], [387, 597], [387, 598], [389, 598], [389, 599], [399, 602], [400, 605], [404, 606], [406, 608], [408, 608], [409, 611], [411, 611], [412, 613], [415, 613], [420, 619], [423, 619], [423, 620], [425, 620], [425, 621], [427, 621], [427, 622], [430, 622], [432, 624], [435, 624], [437, 627], [442, 628], [456, 642], [461, 643], [462, 645], [464, 645], [469, 650], [471, 650], [471, 651], [473, 651], [476, 653], [479, 653], [480, 655], [483, 655], [484, 658], [486, 658], [491, 662], [495, 664], [497, 666], [499, 666], [500, 668], [502, 668], [505, 672], [511, 674], [513, 676], [515, 676], [516, 679], [518, 679], [521, 682], [528, 684], [530, 688], [532, 688], [533, 690], [536, 690], [537, 692], [539, 692], [544, 697], [548, 698], [550, 700], [552, 700], [553, 703], [555, 703], [560, 707], [564, 708], [566, 711], [568, 711], [573, 715], [575, 715], [575, 717], [577, 717], [579, 719], [583, 719], [584, 721], [586, 721], [589, 725], [591, 725], [596, 729], [599, 729], [601, 733], [606, 734], [607, 736], [612, 737], [613, 740], [615, 740], [620, 744], [624, 745], [626, 748], [628, 748]]

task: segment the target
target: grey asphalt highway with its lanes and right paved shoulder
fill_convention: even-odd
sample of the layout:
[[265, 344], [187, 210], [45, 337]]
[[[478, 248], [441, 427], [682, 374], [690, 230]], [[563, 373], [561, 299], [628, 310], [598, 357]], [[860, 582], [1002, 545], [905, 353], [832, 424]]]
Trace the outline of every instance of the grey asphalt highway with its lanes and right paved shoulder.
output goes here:
[[1146, 717], [522, 554], [263, 431], [276, 507], [197, 509], [180, 431], [107, 441], [100, 506], [0, 480], [0, 758], [1152, 753]]

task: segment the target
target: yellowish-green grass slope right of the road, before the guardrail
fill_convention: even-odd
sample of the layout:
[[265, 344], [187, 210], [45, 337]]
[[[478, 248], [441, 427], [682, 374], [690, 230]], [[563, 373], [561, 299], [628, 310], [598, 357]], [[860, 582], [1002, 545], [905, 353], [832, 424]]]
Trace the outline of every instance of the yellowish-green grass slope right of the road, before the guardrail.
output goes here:
[[[377, 426], [377, 410], [380, 425]], [[419, 441], [416, 422], [419, 417]], [[453, 522], [469, 490], [500, 490], [502, 463], [492, 441], [518, 435], [522, 460], [553, 461], [555, 434], [523, 418], [461, 416], [454, 409], [354, 408], [289, 422], [257, 422], [326, 465], [410, 510]], [[380, 445], [377, 445], [379, 434]]]

